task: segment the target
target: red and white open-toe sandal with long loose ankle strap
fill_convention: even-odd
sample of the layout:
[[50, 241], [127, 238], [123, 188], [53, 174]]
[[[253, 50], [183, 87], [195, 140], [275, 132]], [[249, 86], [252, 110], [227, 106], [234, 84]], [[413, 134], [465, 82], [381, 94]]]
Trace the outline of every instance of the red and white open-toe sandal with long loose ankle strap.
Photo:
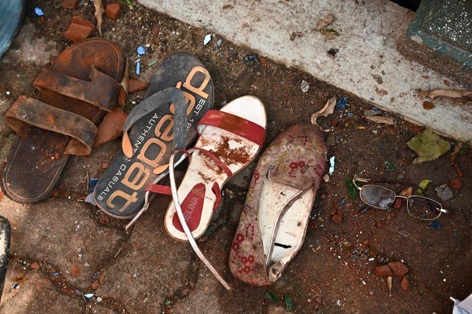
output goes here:
[[[258, 98], [243, 96], [221, 110], [209, 110], [197, 124], [197, 130], [200, 137], [195, 147], [188, 151], [179, 150], [171, 156], [171, 186], [148, 184], [146, 190], [172, 195], [173, 202], [167, 209], [164, 221], [167, 232], [177, 240], [189, 241], [199, 258], [229, 289], [205, 259], [194, 239], [205, 233], [213, 211], [221, 202], [222, 186], [233, 174], [247, 166], [264, 144], [266, 108]], [[174, 162], [175, 156], [182, 153], [184, 155]], [[190, 162], [177, 189], [174, 166], [185, 157], [189, 157]]]

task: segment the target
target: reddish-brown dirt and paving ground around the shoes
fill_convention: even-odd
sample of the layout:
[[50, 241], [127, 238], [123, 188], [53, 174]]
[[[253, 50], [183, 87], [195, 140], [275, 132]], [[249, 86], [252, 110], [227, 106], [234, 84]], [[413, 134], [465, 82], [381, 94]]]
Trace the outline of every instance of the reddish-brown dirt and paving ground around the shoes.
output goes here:
[[[24, 26], [0, 61], [2, 114], [20, 95], [33, 96], [32, 82], [39, 70], [71, 44], [63, 33], [72, 17], [82, 14], [94, 21], [89, 1], [80, 1], [76, 10], [56, 9], [57, 2], [29, 1]], [[43, 23], [32, 15], [34, 7], [43, 9]], [[187, 243], [166, 234], [163, 220], [169, 197], [154, 199], [129, 233], [124, 231], [126, 221], [110, 218], [81, 201], [89, 193], [87, 174], [91, 178], [103, 174], [102, 163], [110, 162], [118, 152], [118, 140], [94, 149], [89, 157], [71, 157], [59, 182], [59, 196], [33, 205], [7, 197], [0, 201], [0, 214], [12, 225], [0, 313], [285, 313], [283, 301], [264, 299], [266, 291], [271, 291], [279, 297], [290, 294], [295, 313], [445, 314], [452, 312], [449, 296], [463, 299], [472, 292], [470, 150], [456, 159], [464, 173], [463, 187], [452, 189], [454, 197], [443, 202], [434, 187], [458, 178], [458, 173], [451, 154], [413, 164], [416, 156], [406, 142], [421, 128], [397, 117], [393, 117], [395, 126], [368, 122], [362, 118], [363, 110], [372, 104], [261, 55], [259, 60], [265, 62], [245, 62], [244, 56], [257, 53], [236, 47], [218, 34], [204, 46], [205, 29], [139, 5], [123, 8], [117, 21], [105, 17], [102, 31], [131, 61], [137, 59], [138, 46], [149, 44], [141, 57], [141, 75], [134, 74], [132, 63], [132, 78], [148, 80], [162, 60], [183, 51], [197, 56], [209, 70], [216, 109], [242, 95], [259, 97], [269, 122], [265, 145], [288, 127], [309, 123], [311, 114], [328, 98], [349, 97], [346, 111], [319, 118], [324, 129], [334, 131], [334, 140], [331, 135], [328, 143], [328, 157], [335, 156], [334, 173], [317, 193], [302, 249], [282, 277], [263, 288], [237, 282], [228, 268], [230, 246], [257, 160], [223, 187], [223, 204], [199, 245], [229, 281], [233, 289], [227, 291]], [[217, 39], [223, 40], [219, 49]], [[156, 64], [147, 66], [154, 60]], [[303, 79], [310, 83], [307, 93], [300, 89]], [[143, 95], [128, 96], [125, 111]], [[354, 116], [348, 117], [348, 112]], [[0, 158], [8, 157], [15, 139], [2, 119]], [[394, 170], [384, 167], [387, 159]], [[441, 228], [433, 229], [429, 222], [409, 218], [405, 207], [361, 213], [363, 203], [358, 197], [349, 198], [344, 183], [354, 173], [413, 183], [431, 180], [429, 196], [453, 214], [443, 214]], [[343, 218], [335, 223], [331, 216], [338, 211]], [[409, 268], [408, 290], [402, 290], [400, 278], [394, 277], [389, 293], [385, 277], [373, 273], [376, 266], [392, 261], [404, 261]], [[31, 267], [34, 262], [39, 269]], [[98, 288], [96, 283], [92, 288], [94, 282]], [[14, 283], [19, 283], [17, 288]], [[87, 300], [83, 293], [94, 296]]]

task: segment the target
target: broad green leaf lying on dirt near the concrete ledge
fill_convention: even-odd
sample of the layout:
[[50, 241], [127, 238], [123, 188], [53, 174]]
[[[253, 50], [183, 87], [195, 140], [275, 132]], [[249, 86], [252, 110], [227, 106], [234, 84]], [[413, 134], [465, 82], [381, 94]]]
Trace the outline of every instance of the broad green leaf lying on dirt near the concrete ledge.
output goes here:
[[439, 135], [433, 133], [433, 130], [427, 128], [423, 133], [416, 135], [407, 142], [418, 157], [413, 163], [434, 160], [442, 154], [449, 151], [451, 143], [443, 140]]

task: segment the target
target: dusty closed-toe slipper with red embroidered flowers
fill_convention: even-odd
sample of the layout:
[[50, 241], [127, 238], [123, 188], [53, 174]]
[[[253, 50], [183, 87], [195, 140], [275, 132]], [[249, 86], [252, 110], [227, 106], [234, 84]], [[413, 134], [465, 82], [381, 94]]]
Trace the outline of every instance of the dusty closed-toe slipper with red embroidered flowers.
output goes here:
[[268, 286], [280, 278], [305, 238], [326, 165], [326, 145], [314, 125], [280, 134], [259, 160], [230, 252], [236, 279]]

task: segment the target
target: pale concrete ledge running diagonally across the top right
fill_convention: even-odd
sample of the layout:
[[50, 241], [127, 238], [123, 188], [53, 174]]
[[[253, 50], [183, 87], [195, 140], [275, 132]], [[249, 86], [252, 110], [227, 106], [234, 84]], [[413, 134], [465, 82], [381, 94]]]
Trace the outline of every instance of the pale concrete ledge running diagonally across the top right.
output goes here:
[[[429, 126], [456, 140], [472, 140], [471, 105], [434, 101], [435, 108], [423, 109], [423, 100], [415, 88], [447, 88], [444, 80], [450, 82], [449, 88], [458, 86], [397, 51], [414, 12], [393, 2], [138, 1], [183, 22], [214, 30], [289, 67], [302, 69], [415, 124]], [[333, 40], [311, 31], [329, 13], [336, 19], [331, 27], [340, 34]], [[290, 35], [297, 31], [303, 35], [291, 41]], [[326, 53], [330, 48], [339, 49], [335, 58]], [[379, 90], [387, 94], [382, 95]]]

